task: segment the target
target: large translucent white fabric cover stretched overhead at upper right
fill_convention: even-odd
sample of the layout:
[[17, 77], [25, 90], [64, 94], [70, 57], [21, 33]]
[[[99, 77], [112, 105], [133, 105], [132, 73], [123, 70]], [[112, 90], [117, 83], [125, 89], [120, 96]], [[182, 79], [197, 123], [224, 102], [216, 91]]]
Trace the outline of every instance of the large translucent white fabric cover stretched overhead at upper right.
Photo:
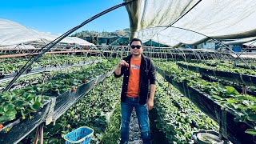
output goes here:
[[[198, 5], [194, 6], [197, 2]], [[126, 5], [126, 10], [131, 38], [178, 46], [198, 44], [209, 37], [255, 36], [255, 7], [254, 0], [137, 0]], [[185, 16], [175, 22], [182, 14]]]

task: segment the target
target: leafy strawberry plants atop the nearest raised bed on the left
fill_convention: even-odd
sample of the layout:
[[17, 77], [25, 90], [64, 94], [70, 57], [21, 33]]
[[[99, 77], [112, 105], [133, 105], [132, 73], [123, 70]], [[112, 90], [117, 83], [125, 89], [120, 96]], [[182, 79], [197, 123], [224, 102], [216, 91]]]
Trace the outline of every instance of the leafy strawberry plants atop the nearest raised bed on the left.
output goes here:
[[46, 96], [58, 96], [76, 88], [90, 79], [111, 70], [115, 61], [102, 61], [91, 66], [80, 67], [66, 73], [53, 74], [49, 81], [26, 86], [20, 90], [5, 91], [0, 94], [0, 123], [4, 126], [16, 118], [30, 118], [43, 105]]

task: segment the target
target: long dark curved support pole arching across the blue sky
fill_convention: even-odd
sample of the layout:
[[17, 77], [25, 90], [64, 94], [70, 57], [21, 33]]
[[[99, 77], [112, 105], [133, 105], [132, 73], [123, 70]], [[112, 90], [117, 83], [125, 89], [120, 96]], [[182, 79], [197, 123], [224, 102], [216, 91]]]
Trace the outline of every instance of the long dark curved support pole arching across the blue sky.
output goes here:
[[[93, 21], [96, 18], [101, 17], [104, 14], [109, 13], [112, 10], [118, 9], [119, 7], [122, 6], [126, 6], [126, 4], [130, 3], [130, 2], [134, 2], [135, 0], [130, 0], [129, 2], [122, 2], [121, 4], [118, 4], [117, 6], [113, 6], [110, 9], [104, 10], [99, 14], [94, 15], [92, 18], [87, 19], [85, 22], [82, 22], [82, 24], [80, 24], [79, 26], [75, 26], [73, 29], [67, 31], [65, 34], [62, 34], [61, 36], [59, 36], [58, 38], [54, 39], [54, 41], [50, 42], [49, 44], [47, 44], [46, 46], [43, 46], [42, 49], [46, 48], [45, 50], [42, 50], [42, 52], [40, 52], [36, 57], [34, 58], [30, 58], [30, 60], [28, 62], [26, 62], [26, 64], [22, 67], [22, 70], [20, 70], [18, 72], [17, 75], [15, 75], [15, 77], [11, 80], [11, 82], [8, 84], [8, 86], [6, 86], [6, 90], [10, 90], [10, 87], [13, 86], [14, 82], [16, 82], [16, 80], [28, 69], [30, 68], [30, 66], [32, 66], [32, 64], [34, 62], [36, 62], [38, 60], [38, 58], [42, 57], [42, 54], [45, 54], [47, 51], [49, 51], [52, 47], [54, 47], [58, 42], [60, 42], [63, 38], [66, 38], [68, 35], [72, 34], [75, 30], [78, 30], [79, 28], [81, 28], [82, 26], [85, 26], [87, 23]], [[31, 61], [31, 62], [30, 62]]]

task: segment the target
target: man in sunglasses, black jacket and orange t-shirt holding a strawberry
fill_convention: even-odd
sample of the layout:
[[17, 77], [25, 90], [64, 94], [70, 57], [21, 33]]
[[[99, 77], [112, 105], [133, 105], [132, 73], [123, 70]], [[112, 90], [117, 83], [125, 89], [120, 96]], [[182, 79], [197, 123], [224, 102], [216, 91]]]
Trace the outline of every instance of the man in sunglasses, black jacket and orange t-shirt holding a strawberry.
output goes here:
[[144, 144], [150, 143], [148, 110], [151, 110], [154, 106], [155, 70], [150, 58], [146, 58], [142, 54], [143, 49], [140, 39], [132, 39], [130, 42], [131, 54], [123, 58], [114, 70], [115, 78], [124, 74], [121, 94], [122, 127], [120, 143], [128, 143], [129, 141], [130, 115], [134, 108], [142, 141]]

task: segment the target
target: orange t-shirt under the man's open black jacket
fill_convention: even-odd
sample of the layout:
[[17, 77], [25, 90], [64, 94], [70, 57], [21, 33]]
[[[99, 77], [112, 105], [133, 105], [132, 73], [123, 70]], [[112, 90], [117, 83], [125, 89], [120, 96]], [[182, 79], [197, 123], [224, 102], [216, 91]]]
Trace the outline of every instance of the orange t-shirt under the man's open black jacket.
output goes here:
[[139, 89], [139, 70], [142, 58], [130, 58], [130, 77], [128, 81], [127, 97], [137, 98]]

